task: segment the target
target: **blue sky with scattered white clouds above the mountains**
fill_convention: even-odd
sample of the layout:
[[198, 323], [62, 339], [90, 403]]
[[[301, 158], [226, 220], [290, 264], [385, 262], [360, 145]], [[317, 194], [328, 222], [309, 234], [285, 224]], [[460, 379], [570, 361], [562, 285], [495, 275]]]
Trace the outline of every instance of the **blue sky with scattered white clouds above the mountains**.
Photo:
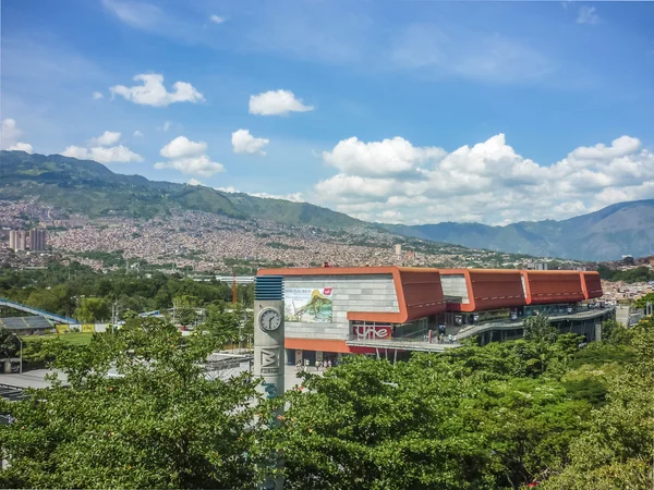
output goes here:
[[3, 0], [3, 149], [389, 223], [654, 198], [654, 2]]

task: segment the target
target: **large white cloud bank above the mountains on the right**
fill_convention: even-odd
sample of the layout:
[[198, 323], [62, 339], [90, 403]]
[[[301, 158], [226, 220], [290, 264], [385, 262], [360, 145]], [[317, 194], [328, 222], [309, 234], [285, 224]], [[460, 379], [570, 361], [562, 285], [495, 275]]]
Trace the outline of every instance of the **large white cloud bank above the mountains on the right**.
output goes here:
[[403, 138], [349, 138], [323, 158], [339, 173], [314, 186], [312, 201], [372, 221], [502, 224], [654, 196], [654, 154], [630, 136], [576, 148], [553, 164], [517, 154], [504, 134], [449, 154]]

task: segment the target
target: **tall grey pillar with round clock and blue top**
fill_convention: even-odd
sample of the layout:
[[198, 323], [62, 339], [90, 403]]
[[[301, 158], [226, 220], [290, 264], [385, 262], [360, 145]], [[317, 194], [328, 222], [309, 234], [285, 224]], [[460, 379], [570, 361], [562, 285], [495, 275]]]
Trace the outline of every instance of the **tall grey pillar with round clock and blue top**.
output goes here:
[[[263, 378], [257, 390], [267, 399], [283, 394], [283, 277], [257, 275], [254, 280], [254, 376]], [[275, 455], [272, 467], [282, 462]], [[281, 477], [268, 479], [263, 489], [281, 490]]]

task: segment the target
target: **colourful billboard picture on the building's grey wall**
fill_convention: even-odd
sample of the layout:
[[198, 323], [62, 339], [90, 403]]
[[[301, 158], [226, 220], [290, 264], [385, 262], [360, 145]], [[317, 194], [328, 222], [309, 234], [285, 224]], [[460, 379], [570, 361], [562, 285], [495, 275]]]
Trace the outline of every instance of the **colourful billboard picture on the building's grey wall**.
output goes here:
[[284, 305], [286, 321], [331, 322], [331, 287], [288, 287]]

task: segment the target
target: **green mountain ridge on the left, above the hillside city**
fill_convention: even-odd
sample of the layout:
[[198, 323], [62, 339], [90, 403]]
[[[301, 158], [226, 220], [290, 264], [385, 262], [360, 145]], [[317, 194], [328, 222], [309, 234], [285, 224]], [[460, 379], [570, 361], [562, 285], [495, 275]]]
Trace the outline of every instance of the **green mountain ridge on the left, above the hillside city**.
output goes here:
[[205, 186], [149, 181], [113, 173], [101, 163], [61, 155], [0, 152], [0, 199], [37, 198], [41, 204], [92, 218], [121, 215], [152, 218], [173, 209], [240, 219], [324, 228], [371, 226], [341, 212], [307, 203], [264, 199]]

